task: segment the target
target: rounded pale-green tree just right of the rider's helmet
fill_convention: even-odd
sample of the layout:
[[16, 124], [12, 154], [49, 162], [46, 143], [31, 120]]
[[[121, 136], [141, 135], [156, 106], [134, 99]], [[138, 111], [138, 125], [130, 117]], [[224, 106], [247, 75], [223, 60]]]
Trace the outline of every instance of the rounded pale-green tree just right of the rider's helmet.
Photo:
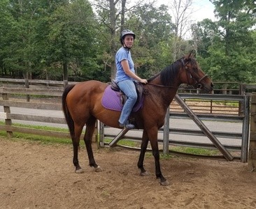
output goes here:
[[[145, 3], [127, 14], [126, 26], [136, 33], [132, 49], [136, 70], [142, 77], [150, 77], [171, 63], [169, 40], [174, 26], [167, 6], [155, 7]], [[163, 51], [166, 51], [163, 56]]]

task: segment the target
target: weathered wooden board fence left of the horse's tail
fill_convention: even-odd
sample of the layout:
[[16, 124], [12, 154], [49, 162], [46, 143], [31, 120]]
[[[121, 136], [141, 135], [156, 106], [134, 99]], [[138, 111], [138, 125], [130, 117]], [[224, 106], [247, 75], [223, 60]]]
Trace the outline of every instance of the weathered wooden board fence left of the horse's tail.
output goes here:
[[[20, 121], [36, 121], [42, 123], [58, 123], [66, 124], [66, 121], [63, 118], [51, 117], [51, 116], [34, 116], [28, 115], [26, 113], [13, 114], [10, 111], [11, 107], [21, 107], [29, 109], [42, 109], [43, 110], [62, 110], [62, 104], [57, 103], [45, 103], [45, 102], [27, 102], [23, 100], [17, 100], [13, 95], [40, 95], [45, 97], [54, 97], [56, 101], [62, 96], [62, 90], [50, 90], [50, 89], [30, 89], [30, 88], [0, 88], [0, 93], [2, 95], [2, 100], [0, 100], [0, 106], [3, 106], [3, 112], [0, 115], [1, 119], [4, 119], [6, 124], [0, 125], [0, 130], [5, 130], [8, 133], [9, 137], [12, 137], [13, 132], [22, 132], [27, 134], [38, 134], [41, 136], [50, 136], [50, 137], [66, 137], [70, 138], [69, 132], [56, 132], [48, 130], [38, 130], [28, 127], [18, 127], [13, 125], [12, 120]], [[10, 100], [10, 97], [12, 99]]]

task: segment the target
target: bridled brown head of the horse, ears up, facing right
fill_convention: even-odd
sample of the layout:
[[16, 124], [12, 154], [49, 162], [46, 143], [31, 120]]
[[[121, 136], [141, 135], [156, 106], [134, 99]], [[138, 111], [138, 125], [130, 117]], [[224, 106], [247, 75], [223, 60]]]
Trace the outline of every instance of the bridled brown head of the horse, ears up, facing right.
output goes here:
[[201, 89], [202, 93], [213, 91], [213, 82], [200, 68], [192, 52], [180, 59], [185, 69], [185, 83]]

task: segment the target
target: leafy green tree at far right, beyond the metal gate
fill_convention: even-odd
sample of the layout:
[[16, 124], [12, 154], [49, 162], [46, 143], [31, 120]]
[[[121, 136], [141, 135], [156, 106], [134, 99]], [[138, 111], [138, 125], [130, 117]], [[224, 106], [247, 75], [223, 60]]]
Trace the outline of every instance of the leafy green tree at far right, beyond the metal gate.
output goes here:
[[251, 1], [212, 2], [218, 21], [204, 21], [204, 30], [213, 32], [208, 39], [201, 38], [208, 52], [204, 54], [204, 69], [208, 69], [215, 81], [253, 82], [256, 78], [252, 59], [255, 54], [255, 32], [252, 30], [255, 9]]

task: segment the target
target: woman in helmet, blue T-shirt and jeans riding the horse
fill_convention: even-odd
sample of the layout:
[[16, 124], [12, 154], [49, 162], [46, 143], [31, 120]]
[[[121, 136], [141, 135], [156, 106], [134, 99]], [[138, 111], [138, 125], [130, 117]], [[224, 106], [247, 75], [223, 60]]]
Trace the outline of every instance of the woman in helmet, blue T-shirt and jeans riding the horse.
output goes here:
[[115, 54], [115, 64], [117, 72], [115, 75], [115, 82], [118, 84], [122, 92], [127, 96], [127, 101], [122, 108], [121, 116], [119, 118], [120, 127], [128, 129], [134, 128], [134, 125], [129, 123], [129, 115], [137, 100], [137, 93], [134, 82], [141, 82], [147, 84], [146, 79], [141, 79], [135, 74], [134, 61], [131, 59], [130, 49], [134, 45], [135, 34], [130, 30], [124, 30], [120, 36], [122, 47]]

